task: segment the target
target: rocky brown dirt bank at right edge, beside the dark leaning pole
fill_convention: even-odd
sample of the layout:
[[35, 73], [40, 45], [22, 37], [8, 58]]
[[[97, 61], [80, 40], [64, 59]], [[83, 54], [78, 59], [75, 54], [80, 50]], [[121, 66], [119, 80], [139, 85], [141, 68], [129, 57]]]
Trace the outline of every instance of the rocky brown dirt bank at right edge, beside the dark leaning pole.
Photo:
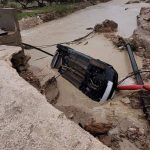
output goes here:
[[[150, 8], [142, 8], [137, 16], [138, 27], [133, 33], [137, 54], [143, 57], [143, 69], [150, 69]], [[150, 75], [145, 76], [149, 79]]]

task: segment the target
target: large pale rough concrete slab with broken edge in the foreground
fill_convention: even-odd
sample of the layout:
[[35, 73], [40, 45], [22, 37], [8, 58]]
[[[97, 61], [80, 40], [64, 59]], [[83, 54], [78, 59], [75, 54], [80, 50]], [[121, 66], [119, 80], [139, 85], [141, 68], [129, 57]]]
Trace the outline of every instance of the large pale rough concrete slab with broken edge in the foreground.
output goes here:
[[0, 46], [0, 149], [109, 150], [18, 75], [10, 59], [19, 51]]

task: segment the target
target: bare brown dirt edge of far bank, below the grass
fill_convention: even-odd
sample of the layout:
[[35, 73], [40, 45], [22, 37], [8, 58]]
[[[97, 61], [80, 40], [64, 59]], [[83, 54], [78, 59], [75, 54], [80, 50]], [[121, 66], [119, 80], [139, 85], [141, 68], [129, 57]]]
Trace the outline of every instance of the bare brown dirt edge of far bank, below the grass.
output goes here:
[[71, 11], [68, 11], [65, 13], [54, 11], [54, 12], [49, 12], [49, 13], [38, 14], [37, 16], [34, 16], [34, 17], [23, 18], [19, 21], [20, 29], [26, 30], [26, 29], [35, 27], [37, 25], [40, 25], [44, 22], [48, 22], [48, 21], [51, 21], [60, 17], [67, 16], [70, 13], [73, 13], [80, 9], [84, 9], [88, 6], [96, 5], [98, 3], [103, 3], [103, 2], [108, 2], [108, 1], [110, 0], [85, 1], [85, 2], [75, 4], [75, 6], [72, 7]]

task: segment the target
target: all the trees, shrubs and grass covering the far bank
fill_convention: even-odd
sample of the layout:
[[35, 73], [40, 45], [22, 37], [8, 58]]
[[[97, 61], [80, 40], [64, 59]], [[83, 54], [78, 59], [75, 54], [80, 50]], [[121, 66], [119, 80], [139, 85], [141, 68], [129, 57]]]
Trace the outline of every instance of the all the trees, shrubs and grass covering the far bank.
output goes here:
[[46, 14], [45, 16], [42, 15], [44, 22], [46, 22], [93, 5], [96, 1], [97, 0], [0, 0], [0, 7], [16, 8], [18, 10], [18, 20]]

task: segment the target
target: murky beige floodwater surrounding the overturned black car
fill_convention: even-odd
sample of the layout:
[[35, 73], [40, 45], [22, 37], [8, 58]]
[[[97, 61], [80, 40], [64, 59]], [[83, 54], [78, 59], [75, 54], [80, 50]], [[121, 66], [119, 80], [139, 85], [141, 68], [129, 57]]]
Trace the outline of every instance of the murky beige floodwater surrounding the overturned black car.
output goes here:
[[[22, 31], [23, 42], [41, 46], [74, 40], [87, 34], [89, 31], [87, 31], [86, 28], [94, 27], [96, 23], [101, 23], [105, 19], [116, 21], [119, 25], [118, 34], [123, 37], [129, 37], [136, 28], [136, 16], [139, 14], [140, 8], [149, 6], [149, 4], [139, 3], [126, 5], [125, 2], [127, 2], [127, 0], [113, 0], [91, 6], [62, 19]], [[86, 45], [84, 45], [85, 43], [81, 43], [79, 45], [71, 45], [71, 47], [112, 64], [118, 71], [119, 78], [123, 78], [131, 72], [127, 53], [117, 50], [103, 35], [96, 35], [87, 41], [88, 44]], [[54, 53], [56, 48], [49, 47], [45, 48], [45, 50]], [[35, 50], [27, 53], [32, 56], [30, 61], [31, 68], [41, 77], [40, 79], [42, 80], [44, 77], [48, 78], [48, 76], [45, 75], [52, 72], [49, 67], [51, 57]], [[37, 60], [41, 57], [45, 58]], [[141, 59], [138, 57], [136, 59], [140, 68], [142, 65]], [[57, 73], [54, 72], [54, 74]], [[59, 105], [81, 105], [81, 102], [83, 102], [82, 105], [86, 103], [87, 107], [97, 105], [97, 103], [92, 102], [61, 77], [58, 79], [58, 87], [60, 90]], [[86, 101], [83, 101], [83, 99]]]

